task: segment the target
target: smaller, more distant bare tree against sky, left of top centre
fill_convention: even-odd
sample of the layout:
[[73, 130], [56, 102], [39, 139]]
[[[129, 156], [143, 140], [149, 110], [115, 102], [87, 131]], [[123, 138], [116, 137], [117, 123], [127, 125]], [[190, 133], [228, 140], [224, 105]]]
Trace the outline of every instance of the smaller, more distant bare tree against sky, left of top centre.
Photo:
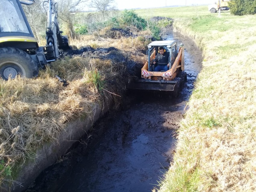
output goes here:
[[92, 0], [89, 7], [96, 8], [98, 11], [100, 11], [102, 13], [103, 20], [105, 20], [105, 12], [115, 9], [115, 6], [111, 5], [114, 2], [114, 0]]

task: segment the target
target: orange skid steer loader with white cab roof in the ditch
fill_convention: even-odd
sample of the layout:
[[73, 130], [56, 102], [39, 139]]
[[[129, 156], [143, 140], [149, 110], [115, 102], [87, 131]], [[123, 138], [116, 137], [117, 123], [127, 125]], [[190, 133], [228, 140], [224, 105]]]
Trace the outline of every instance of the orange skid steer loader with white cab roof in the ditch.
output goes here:
[[[155, 71], [154, 59], [159, 48], [164, 48], [168, 56], [169, 68], [167, 71]], [[156, 63], [161, 65], [162, 63]], [[181, 84], [186, 82], [187, 74], [184, 71], [184, 47], [181, 44], [179, 49], [176, 41], [154, 41], [148, 45], [147, 61], [141, 69], [141, 77], [133, 79], [128, 84], [128, 89], [145, 89], [172, 91], [179, 94]]]

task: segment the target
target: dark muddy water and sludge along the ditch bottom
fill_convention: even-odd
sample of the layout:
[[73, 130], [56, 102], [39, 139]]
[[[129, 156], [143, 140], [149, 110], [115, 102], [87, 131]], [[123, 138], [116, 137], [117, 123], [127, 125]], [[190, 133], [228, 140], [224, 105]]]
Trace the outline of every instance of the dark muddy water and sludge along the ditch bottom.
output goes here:
[[155, 92], [130, 92], [122, 111], [108, 114], [72, 151], [49, 167], [27, 191], [151, 191], [168, 169], [174, 131], [184, 113], [201, 52], [183, 36], [167, 31], [185, 47], [188, 80], [178, 98]]

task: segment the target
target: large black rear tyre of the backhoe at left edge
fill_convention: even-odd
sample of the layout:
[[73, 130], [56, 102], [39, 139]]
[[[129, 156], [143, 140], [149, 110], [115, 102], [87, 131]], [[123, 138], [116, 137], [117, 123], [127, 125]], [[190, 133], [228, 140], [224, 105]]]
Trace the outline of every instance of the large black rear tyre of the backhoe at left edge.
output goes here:
[[14, 79], [17, 75], [32, 78], [39, 68], [26, 52], [12, 47], [0, 48], [0, 78]]

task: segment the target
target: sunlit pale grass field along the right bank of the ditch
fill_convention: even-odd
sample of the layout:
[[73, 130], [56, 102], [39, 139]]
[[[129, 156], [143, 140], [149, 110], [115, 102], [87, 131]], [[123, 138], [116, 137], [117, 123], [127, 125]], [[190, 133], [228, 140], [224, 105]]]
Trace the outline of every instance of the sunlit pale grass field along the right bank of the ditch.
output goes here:
[[158, 191], [255, 191], [256, 16], [218, 17], [206, 6], [136, 13], [174, 18], [204, 56]]

